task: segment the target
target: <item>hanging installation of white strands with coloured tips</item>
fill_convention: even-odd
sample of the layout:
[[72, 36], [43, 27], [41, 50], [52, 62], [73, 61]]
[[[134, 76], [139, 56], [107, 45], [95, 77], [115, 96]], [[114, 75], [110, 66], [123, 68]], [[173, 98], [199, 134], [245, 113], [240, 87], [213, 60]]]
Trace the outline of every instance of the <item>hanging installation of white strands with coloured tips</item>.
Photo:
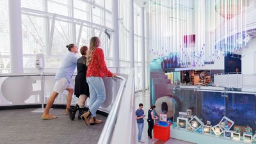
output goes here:
[[[246, 47], [247, 0], [149, 0], [150, 52], [193, 67]], [[247, 39], [246, 39], [247, 37]], [[248, 38], [249, 37], [249, 38]]]

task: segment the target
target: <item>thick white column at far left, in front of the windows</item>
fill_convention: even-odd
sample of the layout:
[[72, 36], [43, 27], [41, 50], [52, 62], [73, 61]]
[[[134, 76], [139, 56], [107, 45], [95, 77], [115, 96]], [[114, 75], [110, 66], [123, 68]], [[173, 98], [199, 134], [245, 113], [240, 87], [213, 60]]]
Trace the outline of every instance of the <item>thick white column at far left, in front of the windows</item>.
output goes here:
[[9, 1], [10, 52], [12, 74], [23, 73], [20, 0]]

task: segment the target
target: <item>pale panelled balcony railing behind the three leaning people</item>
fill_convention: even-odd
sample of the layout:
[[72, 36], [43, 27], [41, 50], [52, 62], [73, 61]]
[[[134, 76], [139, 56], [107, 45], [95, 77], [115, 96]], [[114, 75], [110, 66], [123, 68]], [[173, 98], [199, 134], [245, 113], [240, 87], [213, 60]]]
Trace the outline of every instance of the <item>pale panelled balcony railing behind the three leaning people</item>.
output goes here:
[[[120, 76], [125, 76], [122, 74], [118, 74]], [[24, 104], [42, 104], [42, 109], [36, 112], [44, 111], [44, 104], [47, 102], [47, 95], [51, 95], [52, 86], [54, 86], [55, 79], [54, 73], [43, 73], [43, 74], [0, 74], [0, 106], [13, 106], [13, 105], [24, 105]], [[74, 73], [72, 77], [72, 84], [74, 84], [74, 77], [76, 73]], [[11, 78], [13, 77], [13, 78]], [[9, 78], [9, 79], [8, 79]], [[11, 79], [10, 79], [11, 78]], [[27, 83], [29, 79], [29, 83]], [[118, 77], [104, 77], [104, 84], [106, 89], [107, 98], [105, 102], [100, 107], [100, 110], [109, 113], [111, 106], [113, 105], [113, 101], [116, 99], [116, 93], [118, 88], [120, 87], [120, 78]], [[16, 84], [19, 83], [19, 84]], [[12, 84], [13, 83], [13, 84]], [[8, 85], [6, 85], [8, 84]], [[13, 87], [14, 86], [14, 87]], [[16, 87], [15, 87], [16, 86]], [[29, 92], [26, 92], [27, 87], [31, 87]], [[3, 93], [4, 90], [4, 93]], [[22, 95], [22, 93], [17, 94], [18, 91], [22, 91], [26, 93], [26, 96]], [[16, 94], [13, 95], [13, 92]], [[6, 95], [4, 95], [6, 94]], [[55, 104], [66, 104], [65, 97], [67, 92], [60, 93], [59, 97], [55, 100]], [[74, 98], [74, 99], [73, 99]], [[77, 98], [73, 96], [72, 104], [76, 104]], [[15, 100], [13, 102], [12, 100]], [[20, 100], [16, 100], [20, 99]]]

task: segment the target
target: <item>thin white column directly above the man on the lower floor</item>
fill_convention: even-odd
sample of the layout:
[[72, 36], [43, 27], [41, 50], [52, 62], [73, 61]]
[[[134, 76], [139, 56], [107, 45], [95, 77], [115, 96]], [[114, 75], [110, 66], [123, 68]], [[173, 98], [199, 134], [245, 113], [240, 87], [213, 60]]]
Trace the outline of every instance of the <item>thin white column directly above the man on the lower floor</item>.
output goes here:
[[142, 91], [145, 92], [145, 22], [144, 22], [144, 8], [141, 8], [141, 67], [142, 67]]

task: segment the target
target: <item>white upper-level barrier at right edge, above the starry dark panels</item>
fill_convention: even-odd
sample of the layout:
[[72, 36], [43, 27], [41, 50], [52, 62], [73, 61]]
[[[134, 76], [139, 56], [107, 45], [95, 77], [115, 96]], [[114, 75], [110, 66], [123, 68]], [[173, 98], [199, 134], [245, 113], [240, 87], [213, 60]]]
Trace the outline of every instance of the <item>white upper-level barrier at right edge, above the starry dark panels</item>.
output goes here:
[[216, 86], [242, 88], [256, 92], [256, 75], [241, 73], [214, 74], [214, 84]]

